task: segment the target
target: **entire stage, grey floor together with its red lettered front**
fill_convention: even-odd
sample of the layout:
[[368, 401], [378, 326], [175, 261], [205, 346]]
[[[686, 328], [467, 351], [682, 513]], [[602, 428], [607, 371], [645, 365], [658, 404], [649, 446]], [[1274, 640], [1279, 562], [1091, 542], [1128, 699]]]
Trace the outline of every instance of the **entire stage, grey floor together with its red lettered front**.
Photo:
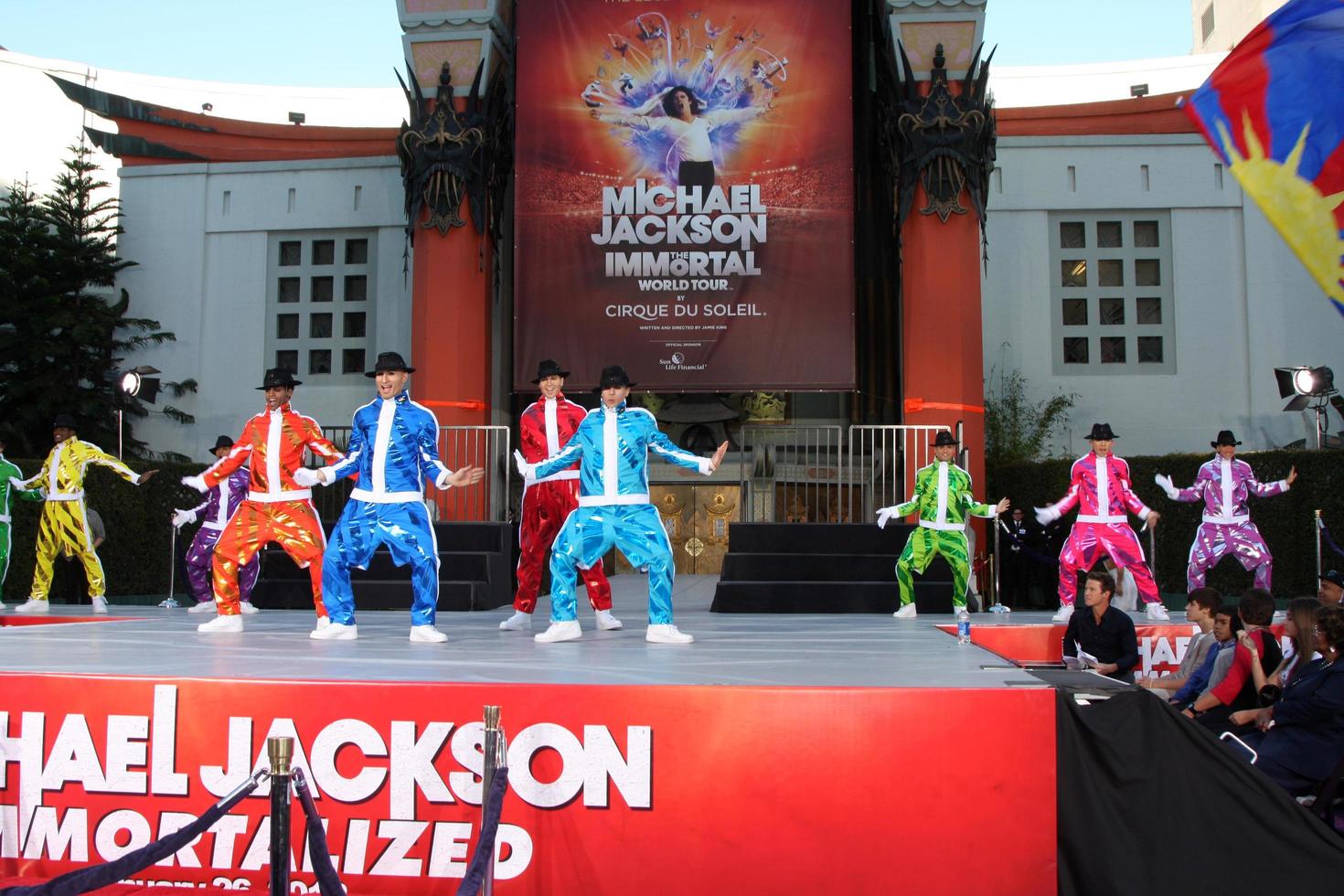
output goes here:
[[[112, 604], [0, 614], [0, 877], [112, 860], [203, 811], [296, 739], [351, 893], [450, 892], [480, 823], [481, 708], [500, 705], [509, 793], [497, 892], [1050, 893], [1056, 693], [1007, 657], [1058, 660], [1046, 613], [710, 613], [714, 576], [676, 580], [687, 646], [644, 641], [646, 580], [613, 576], [621, 631], [539, 645], [511, 609], [406, 610], [359, 639], [308, 638], [310, 611], [210, 614]], [[542, 630], [543, 599], [534, 618]], [[939, 627], [941, 626], [941, 627]], [[1149, 627], [1152, 629], [1152, 627]], [[1141, 637], [1172, 645], [1188, 625]], [[1163, 661], [1145, 647], [1145, 665]], [[1172, 661], [1179, 657], [1171, 657]], [[138, 881], [266, 880], [258, 797]], [[1012, 832], [968, 861], [972, 832]], [[316, 892], [294, 832], [293, 892]], [[898, 844], [898, 846], [894, 846]], [[812, 881], [802, 887], [801, 881]]]

